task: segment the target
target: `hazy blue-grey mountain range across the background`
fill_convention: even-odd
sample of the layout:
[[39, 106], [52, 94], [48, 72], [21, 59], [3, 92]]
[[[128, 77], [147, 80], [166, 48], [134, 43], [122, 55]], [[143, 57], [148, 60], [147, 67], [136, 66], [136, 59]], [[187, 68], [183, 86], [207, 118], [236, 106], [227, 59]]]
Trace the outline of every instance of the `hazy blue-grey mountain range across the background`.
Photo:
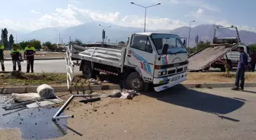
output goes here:
[[[115, 24], [110, 23], [103, 23], [103, 22], [89, 22], [84, 23], [78, 26], [71, 26], [71, 27], [50, 27], [50, 28], [44, 28], [42, 30], [35, 30], [30, 33], [23, 33], [20, 31], [15, 30], [8, 30], [8, 35], [11, 33], [14, 36], [14, 39], [16, 34], [18, 37], [18, 42], [30, 40], [30, 39], [38, 39], [41, 42], [53, 42], [57, 43], [59, 42], [59, 32], [61, 34], [61, 39], [63, 43], [69, 42], [69, 36], [71, 36], [72, 40], [75, 39], [81, 39], [82, 42], [88, 43], [94, 43], [94, 42], [101, 42], [101, 33], [103, 28], [101, 25], [109, 25], [110, 28], [105, 29], [106, 30], [106, 36], [107, 40], [110, 39], [110, 42], [120, 42], [120, 41], [126, 41], [127, 37], [130, 36], [132, 33], [141, 33], [143, 32], [143, 28], [136, 28], [136, 27], [126, 27], [126, 26], [117, 26]], [[195, 38], [198, 35], [199, 40], [202, 41], [212, 41], [213, 40], [213, 30], [216, 28], [216, 26], [221, 25], [213, 25], [213, 24], [202, 24], [198, 26], [191, 27], [190, 29], [190, 47], [196, 45]], [[57, 32], [58, 30], [59, 32]], [[239, 29], [238, 29], [239, 30]], [[147, 32], [153, 32], [153, 33], [174, 33], [178, 34], [178, 36], [186, 37], [188, 39], [188, 26], [182, 26], [180, 28], [177, 28], [175, 30], [147, 30]], [[245, 31], [245, 30], [239, 30], [239, 35], [243, 43], [245, 44], [252, 44], [256, 43], [256, 33]], [[217, 37], [235, 37], [236, 33], [235, 30], [229, 30], [229, 29], [219, 29], [216, 31]]]

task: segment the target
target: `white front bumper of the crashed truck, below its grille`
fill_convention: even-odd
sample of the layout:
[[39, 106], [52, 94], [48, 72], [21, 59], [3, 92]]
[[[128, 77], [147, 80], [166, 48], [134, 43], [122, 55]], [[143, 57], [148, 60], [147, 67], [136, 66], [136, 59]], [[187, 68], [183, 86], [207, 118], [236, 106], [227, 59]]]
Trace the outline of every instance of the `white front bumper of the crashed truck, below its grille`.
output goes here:
[[165, 85], [154, 87], [155, 92], [161, 92], [165, 89], [176, 86], [176, 85], [180, 84], [181, 82], [184, 82], [186, 79], [187, 79], [187, 72], [180, 73], [180, 74], [177, 74], [177, 75], [174, 75], [174, 76], [167, 76], [167, 77], [164, 77], [164, 78], [154, 79], [154, 83], [156, 81], [159, 81], [159, 83], [166, 82]]

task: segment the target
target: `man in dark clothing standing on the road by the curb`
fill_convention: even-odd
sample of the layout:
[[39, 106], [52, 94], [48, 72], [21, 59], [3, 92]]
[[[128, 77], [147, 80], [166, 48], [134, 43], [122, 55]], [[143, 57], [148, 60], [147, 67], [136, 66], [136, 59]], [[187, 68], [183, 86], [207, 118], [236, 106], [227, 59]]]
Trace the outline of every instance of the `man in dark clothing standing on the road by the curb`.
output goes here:
[[245, 71], [248, 67], [248, 56], [245, 54], [244, 48], [239, 47], [238, 51], [240, 52], [240, 58], [238, 62], [238, 69], [236, 71], [235, 76], [235, 88], [232, 88], [232, 90], [238, 90], [239, 89], [239, 80], [240, 80], [240, 88], [241, 90], [244, 90], [245, 85]]

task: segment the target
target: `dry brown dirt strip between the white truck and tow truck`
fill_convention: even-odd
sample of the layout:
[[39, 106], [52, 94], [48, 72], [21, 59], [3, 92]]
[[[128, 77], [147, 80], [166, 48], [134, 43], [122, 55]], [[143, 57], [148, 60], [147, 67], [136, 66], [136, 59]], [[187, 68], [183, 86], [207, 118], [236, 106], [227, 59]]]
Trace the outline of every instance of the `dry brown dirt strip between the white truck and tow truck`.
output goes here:
[[[219, 83], [219, 82], [235, 82], [235, 73], [230, 73], [230, 77], [226, 77], [226, 73], [187, 73], [187, 80], [182, 83]], [[245, 73], [245, 82], [255, 82], [256, 73]]]

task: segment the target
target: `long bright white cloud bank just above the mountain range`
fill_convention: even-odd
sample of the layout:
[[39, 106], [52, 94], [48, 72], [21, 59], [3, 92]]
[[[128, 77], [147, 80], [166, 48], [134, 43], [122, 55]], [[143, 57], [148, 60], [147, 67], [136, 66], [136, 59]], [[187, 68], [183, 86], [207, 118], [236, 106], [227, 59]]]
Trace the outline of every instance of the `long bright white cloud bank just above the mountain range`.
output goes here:
[[[40, 14], [40, 12], [31, 10], [31, 13]], [[90, 9], [77, 8], [74, 5], [68, 5], [67, 8], [56, 8], [53, 13], [41, 15], [39, 19], [12, 21], [2, 20], [0, 26], [14, 28], [15, 30], [40, 30], [46, 27], [56, 26], [76, 26], [90, 21], [102, 21], [114, 23], [119, 26], [143, 27], [144, 17], [136, 15], [122, 15], [120, 12], [101, 12]], [[171, 20], [169, 18], [147, 17], [146, 26], [149, 30], [173, 30], [186, 23], [180, 20]]]

